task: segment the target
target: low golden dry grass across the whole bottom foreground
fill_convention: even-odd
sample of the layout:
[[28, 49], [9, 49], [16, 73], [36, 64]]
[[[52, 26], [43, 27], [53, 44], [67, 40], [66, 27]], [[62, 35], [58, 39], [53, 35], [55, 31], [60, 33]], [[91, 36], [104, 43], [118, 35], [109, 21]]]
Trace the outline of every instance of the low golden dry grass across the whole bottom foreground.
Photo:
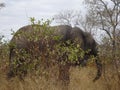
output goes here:
[[[4, 71], [0, 71], [0, 90], [62, 90], [57, 84], [57, 67], [51, 70], [49, 77], [28, 75], [24, 81], [14, 78], [10, 81], [6, 80]], [[57, 69], [56, 69], [57, 70]], [[70, 69], [70, 85], [69, 90], [119, 90], [118, 78], [114, 70], [109, 69], [95, 83], [92, 82], [95, 77], [95, 67], [72, 67]]]

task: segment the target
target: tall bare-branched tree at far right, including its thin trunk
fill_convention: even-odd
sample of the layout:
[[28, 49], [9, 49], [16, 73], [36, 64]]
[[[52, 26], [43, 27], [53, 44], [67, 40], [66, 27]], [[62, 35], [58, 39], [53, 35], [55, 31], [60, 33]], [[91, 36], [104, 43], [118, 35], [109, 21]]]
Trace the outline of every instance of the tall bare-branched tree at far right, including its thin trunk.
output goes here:
[[[92, 12], [95, 26], [104, 31], [108, 35], [109, 46], [111, 47], [112, 63], [117, 71], [120, 81], [120, 73], [118, 71], [118, 32], [120, 31], [120, 0], [85, 0], [88, 11]], [[90, 16], [91, 17], [91, 16]], [[109, 50], [110, 51], [110, 50]], [[107, 53], [108, 54], [108, 53]]]

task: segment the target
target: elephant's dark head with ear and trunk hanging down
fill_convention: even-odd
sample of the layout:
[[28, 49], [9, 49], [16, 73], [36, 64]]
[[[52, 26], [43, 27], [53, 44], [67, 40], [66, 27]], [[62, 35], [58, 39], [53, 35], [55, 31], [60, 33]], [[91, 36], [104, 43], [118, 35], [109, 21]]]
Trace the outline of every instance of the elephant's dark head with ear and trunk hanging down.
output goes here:
[[97, 42], [95, 41], [95, 39], [92, 37], [92, 35], [88, 32], [83, 32], [80, 28], [78, 27], [74, 27], [71, 30], [71, 34], [70, 34], [73, 43], [75, 43], [75, 38], [78, 38], [78, 44], [81, 43], [81, 48], [84, 51], [87, 51], [90, 49], [89, 53], [85, 53], [83, 60], [79, 59], [79, 63], [76, 63], [75, 65], [80, 65], [82, 64], [83, 66], [86, 65], [87, 60], [90, 58], [91, 55], [93, 55], [94, 57], [96, 57], [95, 59], [95, 63], [97, 66], [97, 75], [94, 78], [94, 82], [96, 80], [98, 80], [101, 77], [102, 74], [102, 64], [101, 61], [99, 60], [98, 57], [98, 47], [97, 47]]

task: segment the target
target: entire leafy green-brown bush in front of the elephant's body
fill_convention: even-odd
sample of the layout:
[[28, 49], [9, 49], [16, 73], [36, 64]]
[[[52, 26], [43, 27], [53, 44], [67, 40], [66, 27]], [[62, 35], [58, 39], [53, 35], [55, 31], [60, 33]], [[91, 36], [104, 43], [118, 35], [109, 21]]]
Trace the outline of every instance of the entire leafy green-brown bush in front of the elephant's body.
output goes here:
[[[21, 28], [14, 34], [15, 42], [13, 40], [9, 44], [10, 48], [14, 48], [10, 63], [14, 74], [23, 76], [24, 72], [28, 71], [37, 73], [40, 71], [41, 73], [43, 72], [42, 66], [49, 67], [53, 60], [61, 64], [75, 64], [79, 62], [78, 59], [84, 58], [85, 53], [89, 53], [89, 51], [82, 50], [80, 44], [72, 43], [70, 40], [60, 41], [62, 36], [54, 35], [55, 28], [50, 27], [50, 20], [36, 21], [35, 18], [30, 18], [30, 21], [32, 29]], [[25, 45], [27, 44], [27, 48], [18, 48], [21, 40], [25, 42]], [[42, 46], [41, 49], [40, 46]]]

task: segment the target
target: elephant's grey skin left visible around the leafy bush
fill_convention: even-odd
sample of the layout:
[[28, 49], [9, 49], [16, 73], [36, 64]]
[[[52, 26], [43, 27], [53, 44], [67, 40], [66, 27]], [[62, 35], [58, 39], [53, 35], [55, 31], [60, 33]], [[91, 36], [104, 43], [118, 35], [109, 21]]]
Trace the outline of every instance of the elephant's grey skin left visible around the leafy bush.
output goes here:
[[[91, 49], [91, 51], [85, 55], [83, 61], [79, 60], [79, 63], [76, 63], [73, 66], [80, 65], [80, 64], [85, 66], [86, 61], [90, 55], [97, 57], [97, 53], [98, 53], [97, 48], [96, 48], [97, 43], [95, 42], [94, 38], [89, 33], [83, 32], [78, 27], [72, 28], [67, 25], [53, 26], [53, 27], [50, 27], [50, 29], [54, 29], [53, 36], [59, 36], [59, 35], [62, 36], [59, 42], [65, 42], [67, 40], [71, 40], [72, 43], [80, 44], [83, 50]], [[28, 52], [29, 49], [31, 48], [30, 45], [32, 43], [32, 45], [35, 44], [36, 46], [38, 46], [38, 52], [41, 52], [42, 50], [44, 50], [43, 48], [45, 44], [41, 43], [41, 41], [43, 41], [42, 39], [39, 39], [37, 42], [28, 40], [29, 34], [32, 36], [35, 35], [39, 37], [40, 32], [37, 32], [37, 33], [33, 33], [33, 32], [34, 32], [34, 28], [32, 27], [32, 25], [24, 26], [16, 32], [16, 34], [13, 36], [12, 40], [10, 41], [10, 43], [14, 43], [15, 46], [12, 46], [12, 45], [10, 46], [10, 60], [9, 60], [10, 70], [8, 72], [8, 78], [11, 78], [17, 75], [17, 74], [14, 74], [12, 71], [13, 70], [12, 62], [13, 62], [14, 57], [16, 56], [15, 54], [16, 49], [19, 51], [18, 53], [21, 53], [20, 52], [21, 48]], [[22, 33], [25, 33], [25, 34], [22, 34]], [[55, 43], [59, 43], [59, 42], [51, 41], [49, 45], [52, 47], [54, 46]], [[66, 81], [67, 82], [66, 84], [69, 84], [70, 66], [72, 66], [72, 64], [66, 64], [66, 65], [59, 66], [59, 79], [61, 81]], [[97, 66], [98, 72], [97, 72], [97, 76], [94, 79], [94, 81], [99, 79], [101, 76], [102, 66], [98, 59], [96, 59], [96, 66]], [[23, 71], [23, 73], [26, 74], [27, 72]]]

